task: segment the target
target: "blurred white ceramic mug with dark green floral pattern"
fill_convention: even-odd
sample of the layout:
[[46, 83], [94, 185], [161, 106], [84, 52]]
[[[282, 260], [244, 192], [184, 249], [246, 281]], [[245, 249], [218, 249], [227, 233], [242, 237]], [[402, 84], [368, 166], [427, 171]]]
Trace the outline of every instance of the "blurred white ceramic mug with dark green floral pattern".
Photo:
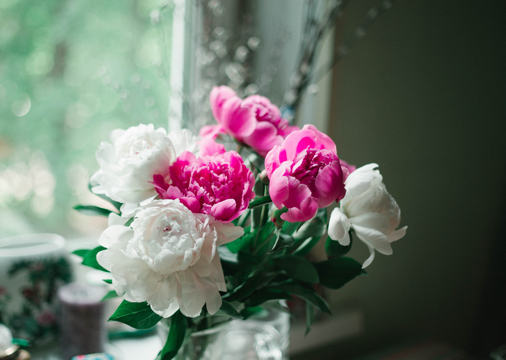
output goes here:
[[71, 281], [65, 239], [27, 234], [0, 239], [0, 323], [16, 338], [48, 343], [57, 336], [57, 290]]

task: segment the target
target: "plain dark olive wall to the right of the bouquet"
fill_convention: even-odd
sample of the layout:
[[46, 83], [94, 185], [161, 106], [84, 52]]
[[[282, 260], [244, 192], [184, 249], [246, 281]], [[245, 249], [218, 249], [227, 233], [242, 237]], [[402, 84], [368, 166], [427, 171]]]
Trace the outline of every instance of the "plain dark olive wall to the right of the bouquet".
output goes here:
[[[377, 4], [350, 2], [338, 38]], [[503, 4], [398, 0], [335, 68], [339, 155], [379, 164], [408, 225], [393, 255], [376, 253], [369, 276], [342, 289], [365, 311], [375, 346], [417, 337], [469, 346], [504, 221]]]

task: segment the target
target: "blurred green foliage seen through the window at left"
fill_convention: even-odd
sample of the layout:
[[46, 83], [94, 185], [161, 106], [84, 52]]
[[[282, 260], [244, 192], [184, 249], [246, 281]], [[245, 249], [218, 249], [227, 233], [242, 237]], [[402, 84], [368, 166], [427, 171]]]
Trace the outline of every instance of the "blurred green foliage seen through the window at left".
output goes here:
[[0, 236], [90, 227], [71, 207], [103, 205], [98, 144], [167, 126], [171, 21], [160, 0], [0, 0]]

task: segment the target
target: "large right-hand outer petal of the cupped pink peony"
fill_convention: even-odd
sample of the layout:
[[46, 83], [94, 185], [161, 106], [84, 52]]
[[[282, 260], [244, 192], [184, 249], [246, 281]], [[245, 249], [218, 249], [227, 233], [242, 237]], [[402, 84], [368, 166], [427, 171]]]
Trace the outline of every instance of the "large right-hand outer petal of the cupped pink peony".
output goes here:
[[339, 195], [344, 188], [343, 170], [339, 161], [325, 166], [316, 176], [315, 187], [318, 197], [318, 208], [326, 208], [334, 201], [339, 201]]

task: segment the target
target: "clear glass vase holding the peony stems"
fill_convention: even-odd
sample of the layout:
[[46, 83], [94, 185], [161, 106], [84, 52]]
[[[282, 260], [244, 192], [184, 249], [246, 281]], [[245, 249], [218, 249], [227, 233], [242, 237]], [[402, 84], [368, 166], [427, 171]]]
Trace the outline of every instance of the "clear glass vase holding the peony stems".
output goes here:
[[[165, 343], [170, 327], [158, 323]], [[289, 315], [264, 309], [246, 320], [235, 319], [214, 328], [195, 332], [181, 346], [175, 360], [287, 360]]]

